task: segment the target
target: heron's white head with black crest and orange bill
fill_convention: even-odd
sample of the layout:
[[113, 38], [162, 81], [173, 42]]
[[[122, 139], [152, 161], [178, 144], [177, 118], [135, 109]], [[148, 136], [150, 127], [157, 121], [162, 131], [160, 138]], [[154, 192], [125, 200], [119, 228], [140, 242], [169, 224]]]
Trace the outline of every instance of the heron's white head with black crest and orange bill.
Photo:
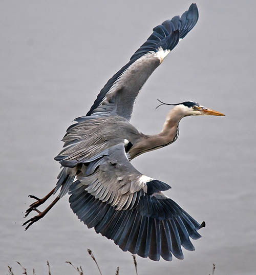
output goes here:
[[206, 108], [195, 101], [185, 101], [185, 102], [176, 103], [176, 104], [164, 103], [159, 99], [158, 101], [161, 102], [161, 104], [158, 105], [157, 108], [161, 105], [173, 105], [175, 106], [173, 110], [179, 113], [181, 117], [193, 116], [193, 115], [225, 116], [224, 114], [211, 110], [209, 108]]

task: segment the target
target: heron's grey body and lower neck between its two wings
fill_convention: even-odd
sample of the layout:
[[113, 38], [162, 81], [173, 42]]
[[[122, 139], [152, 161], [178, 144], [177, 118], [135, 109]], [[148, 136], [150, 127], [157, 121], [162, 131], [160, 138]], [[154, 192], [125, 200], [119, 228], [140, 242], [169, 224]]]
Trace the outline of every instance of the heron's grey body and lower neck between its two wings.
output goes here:
[[[170, 123], [173, 125], [170, 126]], [[56, 160], [63, 158], [64, 162], [67, 162], [81, 157], [90, 158], [102, 149], [123, 142], [124, 139], [130, 142], [129, 147], [125, 144], [125, 151], [132, 160], [140, 154], [174, 142], [178, 137], [178, 121], [166, 122], [163, 131], [158, 135], [145, 135], [127, 119], [118, 115], [94, 119], [85, 117], [85, 121], [75, 124], [67, 133], [62, 141], [65, 142], [64, 146], [68, 147], [61, 151]], [[75, 142], [74, 145], [69, 146], [72, 142]]]

